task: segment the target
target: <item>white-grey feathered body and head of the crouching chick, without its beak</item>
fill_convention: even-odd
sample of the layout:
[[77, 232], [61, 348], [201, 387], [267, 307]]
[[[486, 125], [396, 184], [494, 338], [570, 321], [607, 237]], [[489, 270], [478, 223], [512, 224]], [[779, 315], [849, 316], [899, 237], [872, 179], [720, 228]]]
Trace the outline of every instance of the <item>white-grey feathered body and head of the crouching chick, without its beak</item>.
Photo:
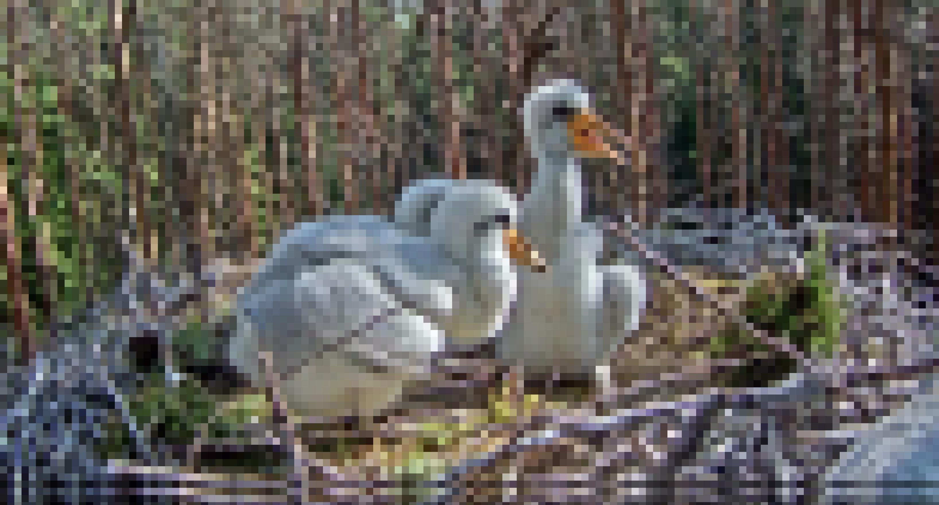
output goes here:
[[241, 293], [231, 358], [263, 384], [258, 353], [271, 353], [300, 413], [376, 413], [428, 370], [448, 332], [500, 324], [515, 271], [488, 223], [514, 221], [514, 205], [504, 191], [454, 194], [429, 237], [374, 216], [300, 224]]

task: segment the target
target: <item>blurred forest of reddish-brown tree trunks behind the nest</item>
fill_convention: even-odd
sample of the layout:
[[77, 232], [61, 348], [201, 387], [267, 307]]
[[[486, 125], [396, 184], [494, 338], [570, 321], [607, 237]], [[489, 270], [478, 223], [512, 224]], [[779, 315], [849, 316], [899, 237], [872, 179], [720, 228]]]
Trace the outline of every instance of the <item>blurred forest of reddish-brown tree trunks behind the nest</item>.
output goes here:
[[[23, 358], [152, 265], [250, 264], [299, 220], [431, 174], [527, 191], [516, 115], [576, 78], [633, 142], [590, 211], [767, 209], [933, 256], [928, 0], [8, 0], [0, 327]], [[9, 331], [12, 329], [12, 331]]]

